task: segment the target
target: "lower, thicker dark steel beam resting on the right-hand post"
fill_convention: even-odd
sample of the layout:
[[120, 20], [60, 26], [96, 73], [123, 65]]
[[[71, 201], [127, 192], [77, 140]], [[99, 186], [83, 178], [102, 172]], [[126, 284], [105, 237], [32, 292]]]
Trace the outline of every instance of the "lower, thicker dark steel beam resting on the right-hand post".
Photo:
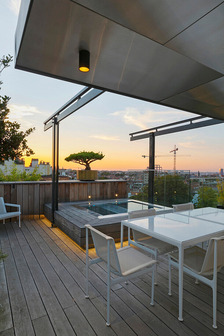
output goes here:
[[[224, 123], [224, 121], [222, 121], [222, 120], [209, 119], [209, 120], [203, 120], [203, 121], [200, 121], [200, 122], [197, 122], [197, 123], [190, 123], [190, 124], [187, 124], [187, 125], [182, 125], [182, 126], [172, 127], [172, 128], [168, 128], [168, 129], [163, 129], [161, 131], [155, 131], [153, 133], [154, 133], [154, 136], [159, 136], [159, 135], [164, 135], [164, 134], [171, 134], [171, 133], [187, 131], [189, 129], [195, 129], [195, 128], [200, 128], [200, 127], [222, 124], [222, 123]], [[150, 133], [140, 134], [140, 135], [136, 135], [136, 136], [131, 136], [130, 141], [146, 139], [146, 138], [149, 138], [149, 137], [150, 137]]]

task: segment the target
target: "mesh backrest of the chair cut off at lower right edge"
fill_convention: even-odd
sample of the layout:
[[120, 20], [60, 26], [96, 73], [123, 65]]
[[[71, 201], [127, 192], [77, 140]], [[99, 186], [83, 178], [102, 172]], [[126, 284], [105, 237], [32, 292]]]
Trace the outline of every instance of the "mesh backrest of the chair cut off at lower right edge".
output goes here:
[[211, 273], [214, 268], [215, 241], [217, 241], [217, 270], [224, 266], [224, 236], [212, 238], [204, 258], [201, 273]]

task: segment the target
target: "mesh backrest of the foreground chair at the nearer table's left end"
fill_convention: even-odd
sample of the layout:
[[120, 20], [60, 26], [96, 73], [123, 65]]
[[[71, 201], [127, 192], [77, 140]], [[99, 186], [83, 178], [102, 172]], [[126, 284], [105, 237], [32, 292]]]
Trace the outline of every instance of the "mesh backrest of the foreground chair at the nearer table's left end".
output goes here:
[[117, 249], [115, 246], [114, 239], [112, 237], [109, 237], [102, 232], [96, 230], [91, 225], [85, 225], [90, 229], [92, 240], [94, 242], [94, 246], [96, 249], [96, 253], [98, 257], [103, 259], [107, 263], [107, 257], [108, 257], [108, 240], [110, 243], [110, 266], [117, 271], [119, 274], [121, 274], [120, 264], [117, 256]]

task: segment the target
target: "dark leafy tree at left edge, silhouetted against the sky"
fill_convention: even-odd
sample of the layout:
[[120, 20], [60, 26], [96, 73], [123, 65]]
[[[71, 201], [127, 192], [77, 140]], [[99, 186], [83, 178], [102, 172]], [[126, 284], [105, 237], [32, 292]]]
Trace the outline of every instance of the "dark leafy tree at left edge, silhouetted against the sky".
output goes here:
[[[10, 55], [0, 58], [0, 74], [10, 66], [11, 61], [12, 56]], [[3, 82], [0, 81], [0, 89], [2, 84]], [[20, 124], [8, 120], [10, 113], [8, 109], [9, 100], [10, 97], [6, 95], [0, 96], [0, 162], [35, 154], [29, 148], [26, 139], [35, 130], [35, 127], [23, 132], [20, 130]]]

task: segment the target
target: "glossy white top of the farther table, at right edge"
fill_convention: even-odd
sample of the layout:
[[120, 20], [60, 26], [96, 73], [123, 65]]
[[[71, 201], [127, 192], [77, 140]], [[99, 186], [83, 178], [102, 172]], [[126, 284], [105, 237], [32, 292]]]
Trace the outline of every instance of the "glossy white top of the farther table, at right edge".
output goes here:
[[217, 208], [200, 208], [178, 212], [180, 215], [195, 217], [197, 219], [208, 220], [224, 225], [224, 210]]

